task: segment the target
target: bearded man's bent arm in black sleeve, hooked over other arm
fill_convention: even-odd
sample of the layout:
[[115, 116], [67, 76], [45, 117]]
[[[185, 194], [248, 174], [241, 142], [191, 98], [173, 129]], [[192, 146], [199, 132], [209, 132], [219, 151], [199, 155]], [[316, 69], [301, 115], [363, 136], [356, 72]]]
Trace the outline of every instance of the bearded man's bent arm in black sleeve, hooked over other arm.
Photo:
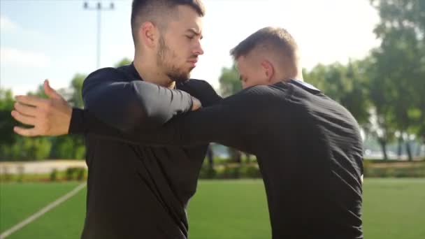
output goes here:
[[142, 80], [116, 80], [120, 75], [114, 73], [106, 76], [94, 75], [85, 81], [85, 108], [120, 131], [154, 129], [192, 108], [192, 96], [186, 92]]

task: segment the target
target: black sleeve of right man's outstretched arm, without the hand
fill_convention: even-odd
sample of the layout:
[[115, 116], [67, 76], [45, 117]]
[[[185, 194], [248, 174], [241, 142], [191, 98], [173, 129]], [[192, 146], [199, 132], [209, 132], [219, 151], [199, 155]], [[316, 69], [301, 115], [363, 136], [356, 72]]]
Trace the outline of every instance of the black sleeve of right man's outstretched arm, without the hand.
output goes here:
[[216, 142], [254, 153], [252, 141], [257, 140], [261, 129], [264, 129], [267, 98], [268, 95], [264, 94], [261, 87], [252, 88], [223, 99], [214, 106], [174, 117], [159, 129], [130, 133], [107, 128], [87, 110], [73, 109], [69, 132], [92, 133], [101, 138], [143, 145]]

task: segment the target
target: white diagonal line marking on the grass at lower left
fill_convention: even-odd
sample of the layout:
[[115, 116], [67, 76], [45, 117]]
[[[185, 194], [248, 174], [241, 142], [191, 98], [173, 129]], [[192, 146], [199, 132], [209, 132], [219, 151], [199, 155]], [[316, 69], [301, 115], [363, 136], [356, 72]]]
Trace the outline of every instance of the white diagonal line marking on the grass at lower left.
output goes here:
[[71, 198], [72, 196], [74, 196], [75, 194], [77, 194], [78, 191], [80, 191], [83, 187], [85, 187], [85, 185], [86, 185], [85, 182], [82, 183], [82, 184], [80, 184], [80, 185], [78, 185], [77, 187], [75, 187], [75, 189], [73, 189], [72, 191], [70, 191], [68, 194], [65, 194], [64, 196], [58, 198], [56, 201], [48, 204], [47, 206], [45, 206], [44, 208], [42, 208], [38, 212], [36, 212], [33, 215], [29, 216], [27, 219], [24, 219], [22, 222], [16, 224], [15, 226], [12, 226], [10, 229], [4, 231], [3, 233], [0, 234], [0, 239], [4, 239], [4, 238], [10, 236], [10, 234], [14, 233], [15, 231], [17, 231], [19, 229], [22, 229], [22, 227], [24, 227], [25, 225], [33, 222], [35, 219], [37, 219], [38, 217], [41, 217], [43, 214], [45, 214], [46, 212], [52, 210], [57, 205], [63, 203], [66, 200], [68, 200], [69, 198]]

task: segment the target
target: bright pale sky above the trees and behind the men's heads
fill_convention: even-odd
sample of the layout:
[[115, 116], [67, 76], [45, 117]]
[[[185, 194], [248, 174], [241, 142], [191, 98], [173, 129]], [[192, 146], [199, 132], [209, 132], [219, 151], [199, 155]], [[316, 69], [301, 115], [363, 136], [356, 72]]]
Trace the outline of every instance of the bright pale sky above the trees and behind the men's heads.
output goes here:
[[[97, 1], [89, 1], [95, 6]], [[134, 56], [131, 0], [101, 13], [101, 67]], [[254, 31], [284, 27], [301, 48], [303, 66], [360, 59], [379, 45], [373, 28], [379, 21], [369, 0], [204, 0], [202, 40], [205, 54], [192, 78], [218, 89], [229, 50]], [[75, 73], [96, 70], [96, 11], [82, 0], [0, 1], [0, 87], [14, 94], [35, 91], [45, 78], [52, 87], [68, 87]], [[308, 79], [306, 79], [308, 80]]]

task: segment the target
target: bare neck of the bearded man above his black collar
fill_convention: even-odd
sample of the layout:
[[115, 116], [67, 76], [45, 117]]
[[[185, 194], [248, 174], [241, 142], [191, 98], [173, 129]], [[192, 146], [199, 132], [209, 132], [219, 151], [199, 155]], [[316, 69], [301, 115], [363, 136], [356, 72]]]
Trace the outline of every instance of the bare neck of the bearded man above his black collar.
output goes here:
[[152, 61], [152, 59], [156, 58], [138, 54], [134, 55], [134, 68], [136, 68], [138, 75], [146, 82], [170, 89], [174, 88], [175, 82], [164, 71], [161, 71], [157, 66], [157, 61]]

